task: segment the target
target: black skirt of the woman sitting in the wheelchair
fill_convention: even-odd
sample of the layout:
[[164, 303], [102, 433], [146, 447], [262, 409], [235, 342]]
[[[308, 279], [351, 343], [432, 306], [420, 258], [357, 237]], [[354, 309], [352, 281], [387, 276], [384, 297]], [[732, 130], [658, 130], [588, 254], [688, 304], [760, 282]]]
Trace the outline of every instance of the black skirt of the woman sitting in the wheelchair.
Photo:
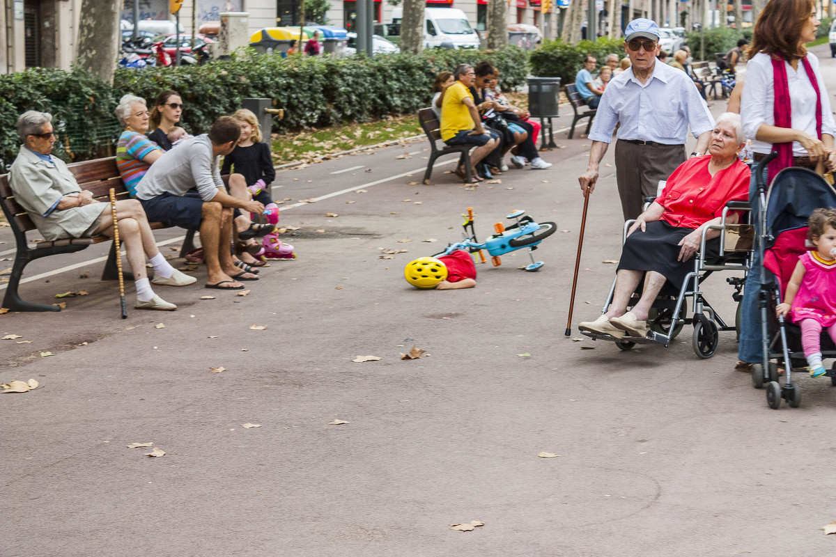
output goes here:
[[[677, 289], [681, 288], [686, 275], [694, 270], [694, 257], [687, 261], [676, 261], [682, 247], [679, 243], [693, 228], [673, 226], [665, 220], [647, 223], [645, 231], [636, 230], [628, 236], [621, 248], [619, 271], [656, 271]], [[706, 242], [706, 250], [716, 255], [720, 239]]]

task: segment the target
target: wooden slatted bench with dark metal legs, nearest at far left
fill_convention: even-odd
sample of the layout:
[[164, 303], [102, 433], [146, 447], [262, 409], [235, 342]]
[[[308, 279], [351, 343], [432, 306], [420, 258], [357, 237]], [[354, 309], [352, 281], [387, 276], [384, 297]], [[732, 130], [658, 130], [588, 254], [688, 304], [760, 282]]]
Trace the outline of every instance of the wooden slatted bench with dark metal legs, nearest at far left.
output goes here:
[[[75, 180], [79, 183], [80, 188], [93, 192], [96, 200], [110, 204], [111, 188], [115, 190], [117, 200], [130, 199], [128, 190], [125, 189], [125, 184], [122, 183], [122, 179], [120, 178], [119, 170], [116, 168], [115, 157], [85, 160], [84, 162], [72, 163], [67, 166], [69, 171], [73, 173]], [[23, 269], [30, 261], [47, 256], [56, 256], [62, 253], [81, 251], [87, 246], [110, 241], [112, 238], [98, 235], [91, 238], [38, 241], [35, 247], [29, 247], [26, 234], [32, 230], [35, 230], [35, 234], [37, 234], [38, 229], [29, 218], [26, 210], [14, 199], [12, 188], [8, 183], [8, 175], [0, 175], [0, 206], [3, 207], [3, 214], [6, 215], [6, 219], [12, 228], [18, 247], [18, 252], [14, 257], [14, 264], [12, 266], [12, 275], [8, 280], [6, 296], [3, 298], [3, 307], [9, 311], [61, 311], [59, 306], [21, 300], [20, 296], [18, 296], [18, 286], [23, 276]], [[151, 222], [150, 226], [152, 230], [168, 228], [167, 225], [161, 222]], [[186, 241], [183, 242], [181, 248], [181, 256], [186, 251], [193, 249], [193, 236], [194, 230], [189, 230], [186, 235]], [[125, 276], [128, 274], [125, 273]], [[113, 281], [118, 278], [116, 246], [113, 244], [110, 246], [110, 255], [108, 256], [107, 263], [104, 265], [101, 280]]]

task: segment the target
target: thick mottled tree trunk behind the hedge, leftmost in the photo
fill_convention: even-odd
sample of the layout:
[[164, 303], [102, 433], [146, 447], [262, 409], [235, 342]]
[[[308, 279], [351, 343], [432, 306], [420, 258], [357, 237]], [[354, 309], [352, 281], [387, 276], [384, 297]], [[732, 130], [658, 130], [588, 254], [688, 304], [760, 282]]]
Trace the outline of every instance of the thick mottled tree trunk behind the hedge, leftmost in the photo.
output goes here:
[[121, 6], [116, 0], [81, 0], [75, 63], [110, 84], [119, 55]]

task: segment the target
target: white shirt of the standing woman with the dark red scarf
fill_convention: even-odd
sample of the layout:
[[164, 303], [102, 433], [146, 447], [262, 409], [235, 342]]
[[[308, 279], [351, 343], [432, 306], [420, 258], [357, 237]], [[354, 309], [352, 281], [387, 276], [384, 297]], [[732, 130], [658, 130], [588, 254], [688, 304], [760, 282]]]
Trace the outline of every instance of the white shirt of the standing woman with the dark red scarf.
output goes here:
[[[836, 136], [836, 124], [830, 112], [830, 99], [824, 89], [824, 79], [818, 68], [818, 58], [807, 53], [807, 59], [818, 81], [822, 97], [822, 134]], [[804, 65], [798, 60], [798, 71], [784, 62], [787, 68], [787, 83], [790, 106], [793, 110], [793, 129], [800, 129], [816, 137], [816, 90], [807, 77]], [[772, 58], [768, 54], [757, 53], [746, 64], [746, 81], [743, 83], [743, 96], [740, 104], [740, 116], [743, 120], [743, 133], [752, 140], [752, 149], [756, 153], [767, 154], [772, 151], [772, 144], [755, 139], [761, 124], [775, 125], [775, 83], [772, 75]], [[798, 141], [793, 141], [793, 156], [807, 156]]]

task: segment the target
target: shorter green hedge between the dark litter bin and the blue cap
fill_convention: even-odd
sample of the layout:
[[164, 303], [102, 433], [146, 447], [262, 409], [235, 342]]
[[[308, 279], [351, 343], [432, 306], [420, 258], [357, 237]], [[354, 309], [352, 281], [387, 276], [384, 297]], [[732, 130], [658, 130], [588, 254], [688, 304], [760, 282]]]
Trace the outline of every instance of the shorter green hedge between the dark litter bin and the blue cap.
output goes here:
[[581, 41], [577, 45], [564, 43], [562, 39], [543, 41], [543, 48], [531, 53], [531, 71], [538, 77], [559, 77], [562, 84], [573, 84], [575, 74], [584, 65], [584, 58], [592, 54], [599, 65], [608, 54], [624, 57], [624, 40], [599, 38], [596, 41]]

